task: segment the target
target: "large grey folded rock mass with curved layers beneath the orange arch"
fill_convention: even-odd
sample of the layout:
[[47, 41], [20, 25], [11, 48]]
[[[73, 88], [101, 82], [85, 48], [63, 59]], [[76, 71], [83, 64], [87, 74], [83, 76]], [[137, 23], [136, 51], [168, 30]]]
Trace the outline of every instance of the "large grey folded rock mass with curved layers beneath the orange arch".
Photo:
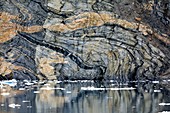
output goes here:
[[160, 75], [169, 62], [164, 53], [149, 44], [143, 35], [115, 25], [62, 33], [56, 36], [56, 42], [75, 53], [87, 64], [100, 64], [107, 68], [104, 75], [91, 73], [93, 76], [90, 76], [91, 74], [85, 73], [84, 70], [79, 72], [79, 68], [73, 69], [72, 65], [63, 65], [60, 72], [67, 76], [67, 72], [71, 70], [70, 76], [77, 79], [153, 78]]

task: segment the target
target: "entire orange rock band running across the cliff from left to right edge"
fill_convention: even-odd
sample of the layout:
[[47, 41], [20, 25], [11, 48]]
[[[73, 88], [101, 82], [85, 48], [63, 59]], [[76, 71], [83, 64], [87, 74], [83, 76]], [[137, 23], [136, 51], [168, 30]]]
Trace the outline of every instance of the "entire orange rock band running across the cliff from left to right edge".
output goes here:
[[[11, 22], [11, 20], [20, 20], [20, 18], [7, 12], [0, 12], [0, 43], [4, 43], [13, 38], [15, 35], [17, 35], [17, 31], [35, 33], [41, 31], [43, 28], [46, 28], [50, 31], [64, 32], [93, 26], [101, 26], [106, 23], [117, 24], [127, 29], [138, 29], [140, 32], [142, 32], [143, 35], [154, 35], [152, 28], [147, 24], [129, 22], [127, 20], [118, 19], [111, 14], [105, 13], [84, 12], [79, 15], [71, 16], [65, 19], [65, 24], [55, 23], [54, 25], [43, 26], [21, 26]], [[161, 36], [159, 34], [156, 34], [155, 37], [159, 40], [162, 40], [166, 44], [169, 44], [170, 42], [169, 38]]]

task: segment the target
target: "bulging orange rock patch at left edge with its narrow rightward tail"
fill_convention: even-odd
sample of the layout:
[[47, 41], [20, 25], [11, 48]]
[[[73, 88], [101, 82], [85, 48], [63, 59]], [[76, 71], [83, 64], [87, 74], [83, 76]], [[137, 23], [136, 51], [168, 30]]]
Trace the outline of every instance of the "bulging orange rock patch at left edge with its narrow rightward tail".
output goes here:
[[11, 20], [20, 20], [18, 16], [11, 15], [7, 12], [0, 12], [0, 43], [4, 43], [15, 35], [17, 31], [34, 33], [42, 30], [42, 26], [21, 26], [16, 23], [11, 22]]

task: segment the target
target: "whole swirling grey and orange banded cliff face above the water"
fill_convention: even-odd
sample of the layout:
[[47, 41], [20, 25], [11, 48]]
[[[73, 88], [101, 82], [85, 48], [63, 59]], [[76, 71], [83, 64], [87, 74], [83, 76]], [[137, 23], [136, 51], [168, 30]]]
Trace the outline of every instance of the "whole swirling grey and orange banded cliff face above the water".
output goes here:
[[154, 32], [137, 5], [133, 0], [1, 0], [1, 78], [126, 81], [167, 74], [169, 49], [162, 43], [169, 44], [169, 32]]

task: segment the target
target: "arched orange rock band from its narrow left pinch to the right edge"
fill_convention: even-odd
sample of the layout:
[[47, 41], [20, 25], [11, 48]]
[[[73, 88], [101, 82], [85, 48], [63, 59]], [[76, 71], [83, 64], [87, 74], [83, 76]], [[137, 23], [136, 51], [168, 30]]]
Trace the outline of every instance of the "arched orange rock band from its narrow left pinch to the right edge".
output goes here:
[[[137, 21], [141, 21], [141, 18], [135, 18]], [[127, 29], [138, 30], [142, 32], [143, 35], [154, 35], [155, 38], [161, 40], [166, 44], [170, 44], [169, 37], [165, 37], [162, 34], [154, 33], [153, 28], [148, 24], [140, 22], [129, 22], [127, 20], [122, 20], [115, 18], [111, 14], [105, 13], [95, 13], [95, 12], [84, 12], [76, 16], [71, 16], [65, 21], [69, 21], [66, 24], [56, 23], [54, 25], [44, 25], [43, 27], [51, 31], [74, 31], [77, 29], [88, 28], [93, 26], [101, 26], [106, 23], [117, 24]]]

